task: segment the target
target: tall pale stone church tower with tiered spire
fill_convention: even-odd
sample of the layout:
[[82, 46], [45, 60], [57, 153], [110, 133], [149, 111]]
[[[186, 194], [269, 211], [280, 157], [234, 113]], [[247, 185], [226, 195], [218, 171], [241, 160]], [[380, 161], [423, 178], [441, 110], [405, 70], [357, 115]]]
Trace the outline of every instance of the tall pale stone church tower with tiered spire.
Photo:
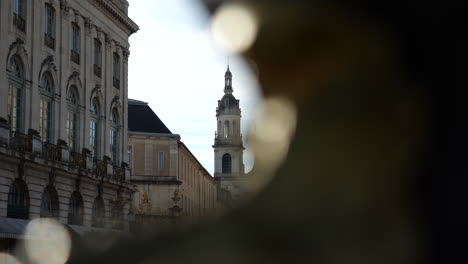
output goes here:
[[244, 176], [244, 146], [241, 134], [241, 109], [232, 88], [232, 73], [227, 67], [224, 75], [224, 96], [216, 108], [217, 131], [215, 133], [214, 177], [222, 190], [231, 196], [241, 192]]

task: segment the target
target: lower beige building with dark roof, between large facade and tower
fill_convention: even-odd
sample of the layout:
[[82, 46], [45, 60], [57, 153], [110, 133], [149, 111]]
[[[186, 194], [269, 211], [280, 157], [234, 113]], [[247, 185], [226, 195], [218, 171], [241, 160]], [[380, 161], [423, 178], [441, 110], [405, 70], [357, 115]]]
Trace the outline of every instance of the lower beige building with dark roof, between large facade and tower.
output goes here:
[[164, 222], [172, 216], [199, 217], [215, 209], [216, 181], [180, 136], [173, 134], [147, 103], [130, 99], [128, 105], [137, 219]]

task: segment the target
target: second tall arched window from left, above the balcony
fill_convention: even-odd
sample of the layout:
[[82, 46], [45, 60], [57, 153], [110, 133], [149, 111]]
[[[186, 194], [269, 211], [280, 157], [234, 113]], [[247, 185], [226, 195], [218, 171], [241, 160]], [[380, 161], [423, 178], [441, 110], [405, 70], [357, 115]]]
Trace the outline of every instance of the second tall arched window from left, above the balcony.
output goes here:
[[41, 99], [39, 103], [39, 134], [42, 141], [52, 141], [52, 100], [54, 97], [54, 81], [50, 72], [45, 72], [39, 86]]

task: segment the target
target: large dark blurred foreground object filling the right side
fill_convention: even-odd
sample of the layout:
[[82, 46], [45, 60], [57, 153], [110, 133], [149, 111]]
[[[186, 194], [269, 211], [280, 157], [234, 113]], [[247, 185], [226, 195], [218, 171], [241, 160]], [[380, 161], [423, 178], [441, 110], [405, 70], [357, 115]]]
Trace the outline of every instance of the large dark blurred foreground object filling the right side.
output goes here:
[[245, 56], [267, 100], [297, 109], [266, 189], [219, 219], [73, 263], [466, 262], [449, 239], [468, 222], [467, 45], [446, 32], [462, 8], [326, 2], [246, 1], [261, 26]]

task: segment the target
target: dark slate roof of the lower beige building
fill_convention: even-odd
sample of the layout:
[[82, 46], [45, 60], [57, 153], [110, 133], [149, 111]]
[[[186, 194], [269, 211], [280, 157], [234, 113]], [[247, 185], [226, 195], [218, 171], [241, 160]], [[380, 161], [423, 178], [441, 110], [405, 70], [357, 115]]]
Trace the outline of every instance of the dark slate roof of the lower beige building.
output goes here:
[[128, 130], [133, 132], [172, 134], [148, 103], [128, 99]]

